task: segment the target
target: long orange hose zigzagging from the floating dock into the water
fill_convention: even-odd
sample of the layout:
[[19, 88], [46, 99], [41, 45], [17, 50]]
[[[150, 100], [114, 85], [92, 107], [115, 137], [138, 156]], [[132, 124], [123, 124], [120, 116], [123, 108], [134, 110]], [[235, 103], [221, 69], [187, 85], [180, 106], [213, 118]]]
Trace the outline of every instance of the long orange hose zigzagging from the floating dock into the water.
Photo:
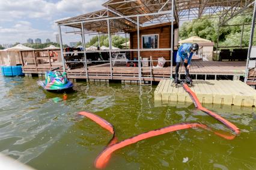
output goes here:
[[[237, 128], [233, 123], [228, 122], [228, 120], [225, 120], [223, 117], [219, 116], [218, 114], [213, 113], [212, 111], [204, 108], [201, 105], [201, 103], [198, 100], [195, 93], [187, 86], [187, 84], [183, 83], [183, 88], [184, 88], [184, 90], [186, 90], [187, 93], [189, 93], [190, 98], [194, 102], [195, 107], [197, 107], [201, 111], [204, 111], [204, 113], [209, 114], [210, 116], [214, 117], [215, 119], [219, 120], [219, 122], [222, 122], [228, 128], [233, 130], [236, 133], [236, 135], [238, 135], [240, 133], [239, 128]], [[117, 142], [117, 138], [115, 138], [115, 130], [114, 130], [113, 126], [111, 125], [111, 123], [107, 122], [105, 119], [102, 119], [101, 117], [99, 117], [93, 113], [88, 113], [88, 112], [82, 111], [82, 112], [79, 112], [78, 114], [88, 117], [89, 119], [93, 120], [94, 122], [96, 122], [97, 124], [102, 126], [102, 128], [108, 130], [109, 132], [111, 132], [113, 134], [111, 141], [109, 141], [108, 147], [106, 147], [102, 151], [102, 153], [99, 154], [96, 161], [94, 162], [94, 165], [96, 166], [96, 168], [105, 168], [106, 164], [108, 163], [109, 159], [111, 158], [111, 154], [120, 148], [126, 147], [127, 145], [134, 144], [138, 141], [141, 141], [141, 140], [144, 140], [147, 138], [151, 138], [153, 136], [159, 136], [159, 135], [163, 135], [168, 132], [174, 132], [174, 131], [181, 130], [181, 129], [203, 128], [203, 129], [212, 131], [216, 135], [221, 136], [222, 138], [225, 138], [225, 139], [231, 140], [236, 137], [236, 135], [225, 135], [224, 133], [216, 132], [216, 131], [210, 129], [207, 125], [203, 125], [200, 123], [180, 123], [180, 124], [176, 124], [176, 125], [167, 126], [165, 128], [151, 130], [149, 132], [145, 132], [140, 135], [133, 136], [132, 138], [125, 139], [124, 141]]]

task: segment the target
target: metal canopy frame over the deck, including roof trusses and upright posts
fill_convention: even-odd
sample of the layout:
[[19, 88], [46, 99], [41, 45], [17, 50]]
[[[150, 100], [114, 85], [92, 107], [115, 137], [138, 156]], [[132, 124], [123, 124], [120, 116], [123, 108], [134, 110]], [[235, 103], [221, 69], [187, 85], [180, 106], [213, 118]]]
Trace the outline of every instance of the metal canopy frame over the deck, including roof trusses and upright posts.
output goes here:
[[[217, 17], [219, 18], [219, 26], [225, 26], [228, 20], [232, 19], [234, 16], [244, 14], [246, 12], [251, 13], [253, 4], [255, 4], [255, 1], [252, 0], [110, 0], [103, 4], [103, 7], [105, 7], [104, 10], [72, 17], [66, 20], [59, 20], [56, 23], [58, 23], [59, 34], [61, 34], [61, 26], [81, 29], [81, 32], [76, 32], [76, 34], [82, 34], [83, 47], [85, 47], [85, 34], [108, 34], [109, 54], [111, 54], [112, 51], [115, 51], [112, 50], [111, 34], [118, 32], [127, 33], [132, 29], [137, 29], [139, 38], [139, 29], [143, 26], [170, 22], [171, 48], [148, 49], [148, 51], [171, 51], [170, 61], [172, 76], [172, 40], [174, 20], [175, 22], [179, 22], [180, 20]], [[252, 29], [254, 29], [254, 27], [252, 27]], [[59, 39], [59, 42], [62, 43], [61, 35], [59, 36]], [[137, 51], [139, 54], [139, 51], [144, 50], [147, 49], [142, 50], [138, 44], [137, 49], [118, 51]], [[81, 51], [81, 53], [86, 54], [90, 53], [90, 51], [84, 50]], [[64, 54], [67, 53], [64, 53], [63, 50], [61, 50], [62, 60], [64, 60]], [[140, 57], [138, 57], [138, 60], [141, 62]], [[87, 69], [87, 60], [84, 60], [84, 64]], [[139, 72], [139, 78], [141, 80], [140, 76], [141, 72]]]

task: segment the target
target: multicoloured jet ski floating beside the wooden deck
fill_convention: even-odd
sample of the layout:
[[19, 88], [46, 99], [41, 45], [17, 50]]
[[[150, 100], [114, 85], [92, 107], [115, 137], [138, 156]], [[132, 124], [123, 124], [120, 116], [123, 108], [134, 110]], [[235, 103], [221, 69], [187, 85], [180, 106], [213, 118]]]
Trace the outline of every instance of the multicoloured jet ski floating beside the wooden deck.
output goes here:
[[[59, 69], [59, 68], [56, 68]], [[62, 91], [62, 90], [71, 90], [73, 88], [73, 83], [67, 80], [66, 72], [47, 71], [45, 74], [45, 81], [37, 81], [38, 86], [43, 87], [48, 91]]]

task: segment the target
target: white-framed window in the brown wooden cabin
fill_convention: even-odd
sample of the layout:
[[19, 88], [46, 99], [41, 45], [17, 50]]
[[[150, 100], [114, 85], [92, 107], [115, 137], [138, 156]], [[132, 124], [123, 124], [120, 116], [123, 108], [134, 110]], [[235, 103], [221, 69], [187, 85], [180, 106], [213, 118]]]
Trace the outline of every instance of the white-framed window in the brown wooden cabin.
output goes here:
[[158, 48], [158, 34], [142, 35], [142, 48]]

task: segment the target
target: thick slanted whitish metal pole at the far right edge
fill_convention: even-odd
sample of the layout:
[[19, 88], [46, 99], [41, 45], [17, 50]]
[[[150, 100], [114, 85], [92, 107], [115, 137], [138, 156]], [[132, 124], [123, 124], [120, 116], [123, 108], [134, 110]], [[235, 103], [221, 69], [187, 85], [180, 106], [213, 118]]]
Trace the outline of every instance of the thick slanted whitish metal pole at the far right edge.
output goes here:
[[248, 73], [249, 73], [248, 64], [249, 64], [249, 59], [250, 59], [250, 56], [251, 56], [252, 40], [254, 39], [255, 17], [256, 17], [256, 1], [254, 1], [254, 15], [252, 16], [251, 36], [250, 36], [249, 48], [248, 48], [248, 54], [247, 54], [247, 60], [246, 60], [245, 81], [244, 81], [244, 83], [247, 83], [247, 79], [248, 79]]

